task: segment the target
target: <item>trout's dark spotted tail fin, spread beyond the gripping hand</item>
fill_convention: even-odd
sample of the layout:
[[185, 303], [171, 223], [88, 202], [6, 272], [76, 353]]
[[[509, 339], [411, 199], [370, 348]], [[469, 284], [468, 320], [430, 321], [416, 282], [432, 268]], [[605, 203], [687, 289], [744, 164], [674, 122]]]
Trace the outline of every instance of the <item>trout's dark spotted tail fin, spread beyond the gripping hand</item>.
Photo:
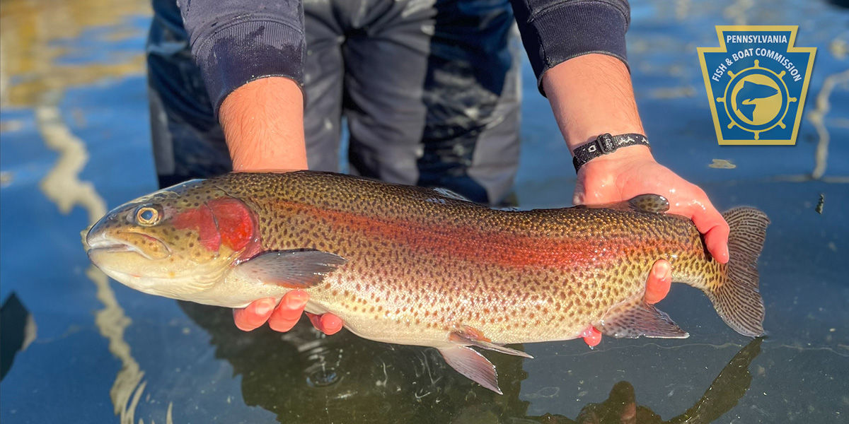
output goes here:
[[725, 276], [707, 288], [717, 314], [734, 331], [745, 336], [763, 334], [763, 299], [758, 290], [756, 261], [767, 236], [769, 218], [754, 208], [730, 209], [722, 217], [728, 222], [728, 264]]

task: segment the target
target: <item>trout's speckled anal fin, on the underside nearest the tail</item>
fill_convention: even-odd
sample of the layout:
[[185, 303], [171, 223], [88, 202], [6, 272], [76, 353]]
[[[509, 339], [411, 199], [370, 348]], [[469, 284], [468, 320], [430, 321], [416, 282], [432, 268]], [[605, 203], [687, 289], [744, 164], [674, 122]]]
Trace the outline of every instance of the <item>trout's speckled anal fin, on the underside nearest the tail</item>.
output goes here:
[[596, 328], [615, 338], [689, 338], [689, 333], [672, 322], [666, 312], [646, 304], [642, 298], [614, 306]]

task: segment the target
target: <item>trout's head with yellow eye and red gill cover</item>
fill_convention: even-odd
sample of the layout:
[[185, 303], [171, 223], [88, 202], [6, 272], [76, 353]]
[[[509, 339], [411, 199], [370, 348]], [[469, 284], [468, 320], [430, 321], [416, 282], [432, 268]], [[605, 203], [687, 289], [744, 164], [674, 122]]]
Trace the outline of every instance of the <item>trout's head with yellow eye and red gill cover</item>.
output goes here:
[[112, 209], [87, 232], [89, 259], [144, 293], [191, 300], [261, 250], [256, 214], [210, 180], [187, 181]]

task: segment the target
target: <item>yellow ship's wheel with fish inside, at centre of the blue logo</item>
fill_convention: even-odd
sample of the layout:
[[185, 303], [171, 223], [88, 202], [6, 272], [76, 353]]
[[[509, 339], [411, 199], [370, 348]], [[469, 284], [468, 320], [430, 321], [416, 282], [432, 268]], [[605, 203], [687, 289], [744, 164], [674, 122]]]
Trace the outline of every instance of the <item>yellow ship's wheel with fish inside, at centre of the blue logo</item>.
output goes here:
[[790, 97], [787, 85], [784, 84], [785, 71], [778, 74], [760, 66], [755, 60], [755, 66], [746, 68], [738, 73], [728, 71], [731, 80], [725, 86], [725, 94], [717, 98], [724, 103], [725, 113], [731, 119], [728, 128], [738, 126], [743, 131], [760, 139], [761, 133], [772, 130], [775, 126], [785, 128], [784, 117], [790, 109], [790, 102], [796, 98]]

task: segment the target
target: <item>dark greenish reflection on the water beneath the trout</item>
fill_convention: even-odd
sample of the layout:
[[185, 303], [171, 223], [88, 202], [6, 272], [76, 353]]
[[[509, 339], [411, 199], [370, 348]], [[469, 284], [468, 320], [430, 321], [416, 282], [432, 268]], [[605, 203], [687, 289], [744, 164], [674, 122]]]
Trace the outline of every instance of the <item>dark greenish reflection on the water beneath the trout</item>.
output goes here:
[[242, 376], [245, 404], [260, 406], [280, 422], [454, 423], [699, 423], [734, 407], [751, 384], [748, 371], [761, 352], [757, 338], [741, 349], [689, 410], [663, 421], [638, 405], [634, 388], [619, 382], [608, 399], [588, 404], [574, 419], [528, 416], [520, 400], [522, 360], [489, 355], [498, 367], [503, 396], [483, 390], [453, 371], [436, 349], [377, 343], [350, 332], [325, 337], [303, 320], [292, 332], [262, 328], [241, 332], [229, 310], [181, 302], [211, 335], [216, 358]]

